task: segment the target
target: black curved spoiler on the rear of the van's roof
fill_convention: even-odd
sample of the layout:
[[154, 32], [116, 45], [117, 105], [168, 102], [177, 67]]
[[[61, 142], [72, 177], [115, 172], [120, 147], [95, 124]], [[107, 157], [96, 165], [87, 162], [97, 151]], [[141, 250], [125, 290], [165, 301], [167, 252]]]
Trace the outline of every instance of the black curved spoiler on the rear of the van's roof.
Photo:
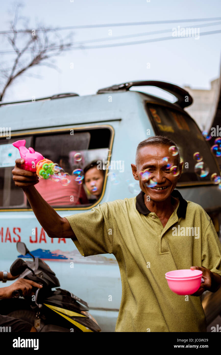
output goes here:
[[[127, 83], [116, 84], [113, 86], [109, 86], [104, 89], [98, 90], [97, 94], [103, 94], [111, 91], [128, 91], [132, 86], [156, 86], [160, 89], [163, 89], [172, 95], [177, 97], [177, 101], [175, 104], [178, 104], [180, 107], [184, 108], [193, 103], [193, 98], [188, 93], [188, 91], [182, 89], [181, 87], [167, 83], [166, 81], [158, 81], [158, 80], [142, 80], [142, 81], [130, 81]], [[188, 101], [186, 102], [186, 99]]]

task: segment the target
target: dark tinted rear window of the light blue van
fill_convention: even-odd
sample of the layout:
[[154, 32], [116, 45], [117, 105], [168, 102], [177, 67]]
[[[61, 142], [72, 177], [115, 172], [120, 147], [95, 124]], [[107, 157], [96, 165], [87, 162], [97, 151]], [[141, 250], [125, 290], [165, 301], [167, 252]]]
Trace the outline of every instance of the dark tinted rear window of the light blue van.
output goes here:
[[[156, 135], [167, 136], [179, 148], [184, 164], [177, 185], [190, 182], [205, 182], [206, 184], [211, 182], [212, 184], [210, 176], [213, 173], [220, 175], [219, 169], [208, 142], [205, 141], [194, 120], [185, 113], [160, 105], [148, 104], [147, 109]], [[194, 160], [193, 154], [196, 152], [203, 156], [203, 162], [209, 168], [209, 174], [203, 178], [194, 172], [194, 166], [197, 161]], [[188, 163], [188, 168], [185, 168], [186, 162]]]

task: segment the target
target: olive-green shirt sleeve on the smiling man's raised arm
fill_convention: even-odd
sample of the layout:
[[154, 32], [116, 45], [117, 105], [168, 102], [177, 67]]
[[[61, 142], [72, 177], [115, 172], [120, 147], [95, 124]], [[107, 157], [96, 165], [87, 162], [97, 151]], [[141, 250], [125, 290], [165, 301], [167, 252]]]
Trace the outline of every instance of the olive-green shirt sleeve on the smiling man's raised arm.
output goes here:
[[72, 239], [83, 256], [112, 254], [114, 251], [114, 228], [109, 206], [106, 202], [89, 212], [65, 217], [77, 239]]

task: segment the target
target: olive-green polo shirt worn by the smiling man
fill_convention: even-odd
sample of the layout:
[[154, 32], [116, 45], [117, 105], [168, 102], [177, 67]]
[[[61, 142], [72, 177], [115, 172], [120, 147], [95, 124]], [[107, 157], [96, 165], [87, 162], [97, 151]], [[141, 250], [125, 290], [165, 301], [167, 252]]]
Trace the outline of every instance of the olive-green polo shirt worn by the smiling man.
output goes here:
[[115, 332], [206, 332], [201, 296], [173, 293], [165, 273], [204, 266], [221, 275], [221, 244], [214, 225], [199, 204], [173, 190], [179, 204], [163, 227], [143, 195], [141, 191], [137, 197], [67, 216], [77, 237], [74, 244], [85, 257], [116, 257], [122, 297]]

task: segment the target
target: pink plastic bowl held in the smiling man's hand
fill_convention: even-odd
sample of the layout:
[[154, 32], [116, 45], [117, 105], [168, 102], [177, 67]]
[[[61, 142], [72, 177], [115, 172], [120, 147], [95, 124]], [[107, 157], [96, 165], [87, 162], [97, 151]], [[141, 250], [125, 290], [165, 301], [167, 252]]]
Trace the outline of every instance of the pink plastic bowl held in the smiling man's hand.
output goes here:
[[165, 274], [171, 291], [177, 295], [192, 295], [199, 289], [203, 272], [200, 270], [174, 270]]

